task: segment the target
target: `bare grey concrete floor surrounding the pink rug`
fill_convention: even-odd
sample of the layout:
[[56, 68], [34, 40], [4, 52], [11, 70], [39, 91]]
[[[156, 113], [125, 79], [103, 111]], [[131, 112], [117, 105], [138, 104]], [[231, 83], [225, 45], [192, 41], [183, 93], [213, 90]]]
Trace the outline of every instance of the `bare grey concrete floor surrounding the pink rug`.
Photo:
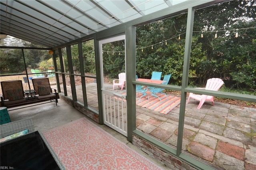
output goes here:
[[[67, 123], [70, 123], [72, 121], [75, 121], [77, 119], [86, 117], [85, 115], [83, 115], [78, 110], [74, 109], [72, 106], [68, 105], [61, 99], [59, 99], [58, 101], [59, 101], [58, 106], [56, 106], [55, 103], [52, 102], [52, 103], [46, 103], [43, 105], [37, 105], [37, 106], [27, 107], [23, 109], [12, 110], [12, 111], [8, 111], [8, 113], [10, 115], [11, 121], [17, 121], [25, 118], [32, 118], [35, 130], [39, 130], [40, 132], [46, 132], [53, 128], [56, 128], [56, 127], [65, 125]], [[89, 118], [88, 120], [92, 121]], [[148, 158], [150, 161], [154, 162], [161, 168], [169, 169], [169, 168], [166, 168], [166, 166], [164, 166], [161, 162], [155, 160], [154, 158], [151, 158], [150, 156], [148, 156], [148, 154], [138, 149], [131, 142], [128, 142], [127, 138], [122, 134], [116, 132], [115, 130], [113, 130], [112, 128], [109, 128], [106, 125], [99, 125], [94, 121], [92, 122], [98, 127], [108, 132], [109, 134], [111, 134], [112, 136], [114, 136], [117, 140], [120, 140], [121, 142], [125, 143], [127, 146], [135, 150], [137, 153]]]

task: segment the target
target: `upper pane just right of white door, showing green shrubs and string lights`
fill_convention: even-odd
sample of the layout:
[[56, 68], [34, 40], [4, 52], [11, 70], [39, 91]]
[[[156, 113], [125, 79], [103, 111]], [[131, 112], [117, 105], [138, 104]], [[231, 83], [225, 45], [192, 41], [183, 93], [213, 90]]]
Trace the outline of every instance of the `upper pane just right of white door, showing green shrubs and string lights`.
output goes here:
[[136, 75], [152, 79], [153, 72], [172, 74], [181, 85], [187, 14], [136, 27]]

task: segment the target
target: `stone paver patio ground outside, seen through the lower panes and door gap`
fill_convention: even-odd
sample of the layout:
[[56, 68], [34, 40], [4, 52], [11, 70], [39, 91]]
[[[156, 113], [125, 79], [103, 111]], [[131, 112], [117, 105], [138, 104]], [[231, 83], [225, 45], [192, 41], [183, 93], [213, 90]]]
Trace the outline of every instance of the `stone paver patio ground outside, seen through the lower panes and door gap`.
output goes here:
[[[111, 84], [104, 87], [113, 91]], [[76, 86], [78, 101], [82, 100], [80, 89]], [[86, 85], [86, 91], [88, 105], [97, 109], [97, 93], [92, 93], [96, 92], [96, 83]], [[114, 91], [126, 92], [120, 88]], [[220, 102], [214, 106], [206, 102], [197, 109], [198, 103], [191, 99], [186, 105], [182, 152], [199, 156], [202, 162], [218, 169], [256, 169], [256, 109]], [[176, 148], [179, 110], [177, 106], [168, 114], [162, 114], [136, 105], [136, 127]]]

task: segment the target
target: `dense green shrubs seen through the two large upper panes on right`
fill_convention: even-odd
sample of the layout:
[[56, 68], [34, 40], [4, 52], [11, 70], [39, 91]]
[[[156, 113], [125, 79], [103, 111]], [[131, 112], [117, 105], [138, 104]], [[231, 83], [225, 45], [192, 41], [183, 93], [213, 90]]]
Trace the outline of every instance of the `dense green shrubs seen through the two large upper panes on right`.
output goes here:
[[[255, 7], [255, 0], [235, 0], [195, 11], [190, 85], [205, 85], [207, 79], [219, 77], [226, 87], [255, 91]], [[136, 28], [137, 75], [148, 78], [152, 71], [172, 73], [170, 82], [181, 85], [186, 19], [181, 14]]]

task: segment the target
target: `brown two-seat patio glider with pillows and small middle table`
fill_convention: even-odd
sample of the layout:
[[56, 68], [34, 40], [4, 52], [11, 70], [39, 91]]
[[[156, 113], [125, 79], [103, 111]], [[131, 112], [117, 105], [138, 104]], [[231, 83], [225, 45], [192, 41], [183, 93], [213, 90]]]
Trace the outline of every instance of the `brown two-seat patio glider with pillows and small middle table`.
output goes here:
[[[44, 102], [44, 103], [55, 102], [57, 105], [58, 93], [56, 92], [56, 89], [52, 89], [50, 87], [50, 82], [48, 78], [32, 79], [32, 82], [33, 82], [35, 93], [33, 94], [30, 93], [30, 97], [25, 97], [24, 95], [25, 92], [24, 92], [21, 80], [1, 81], [1, 87], [2, 87], [1, 107], [11, 108], [11, 107], [18, 107], [18, 106], [29, 105], [29, 104], [40, 103], [40, 102]], [[54, 91], [54, 93], [52, 91]], [[28, 92], [26, 91], [26, 94], [27, 93]], [[48, 101], [48, 102], [45, 102], [45, 101]], [[40, 103], [40, 104], [44, 104], [44, 103]], [[26, 106], [26, 107], [29, 107], [29, 106]]]

